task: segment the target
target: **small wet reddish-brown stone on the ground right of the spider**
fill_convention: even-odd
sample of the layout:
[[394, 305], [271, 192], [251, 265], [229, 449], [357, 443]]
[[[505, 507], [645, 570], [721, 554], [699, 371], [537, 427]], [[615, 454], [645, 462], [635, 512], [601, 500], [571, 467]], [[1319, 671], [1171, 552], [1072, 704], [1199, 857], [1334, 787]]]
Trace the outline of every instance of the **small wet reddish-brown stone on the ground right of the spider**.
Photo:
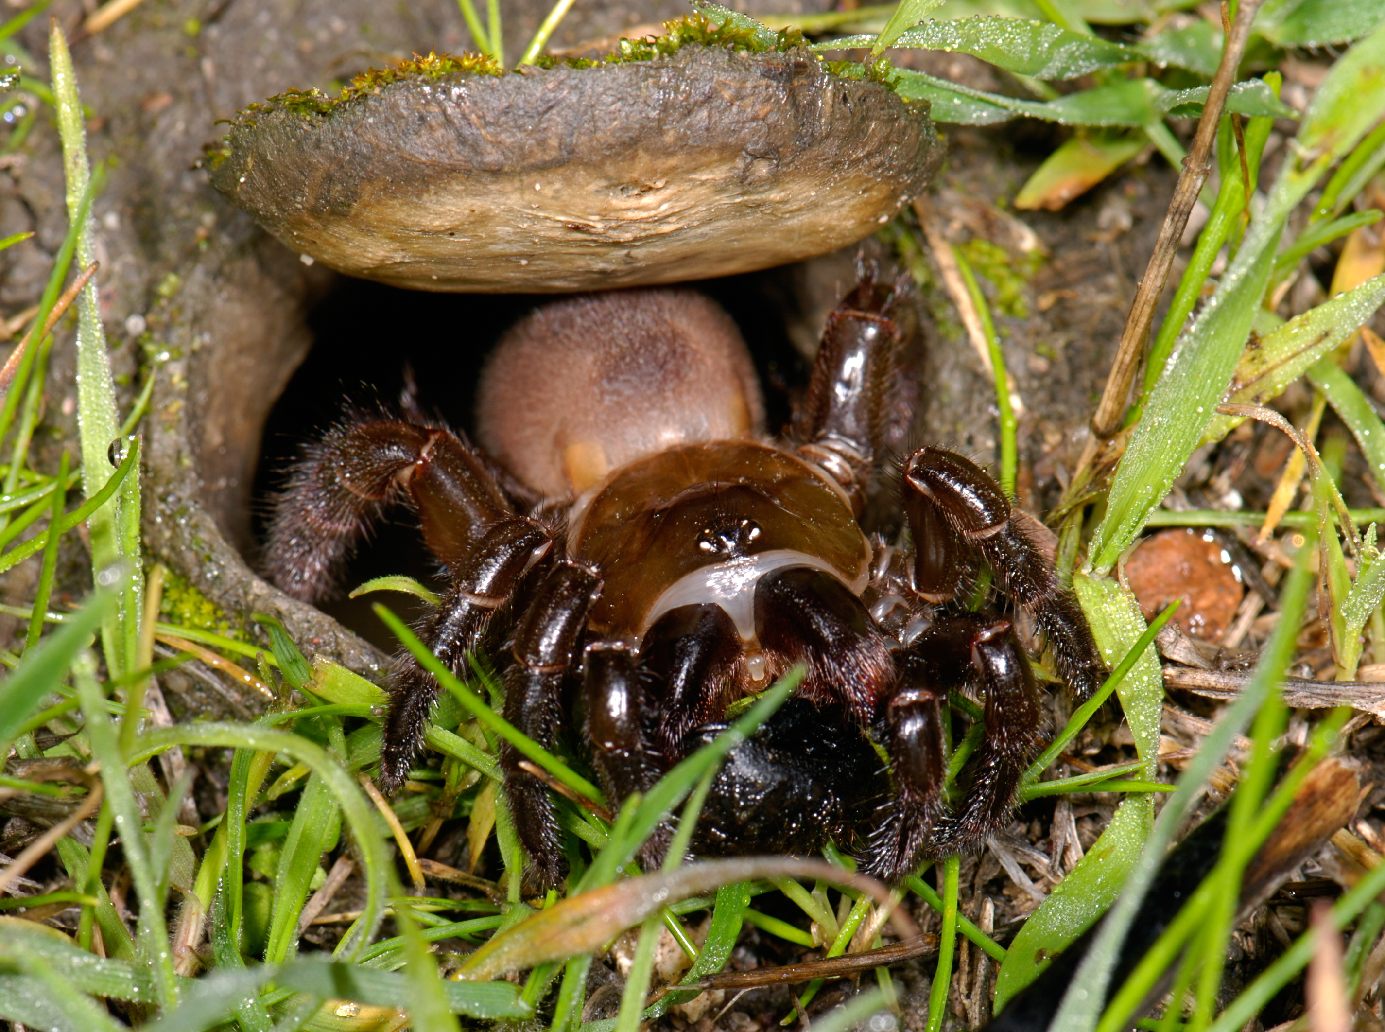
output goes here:
[[1126, 562], [1125, 576], [1145, 619], [1181, 598], [1173, 622], [1204, 641], [1220, 640], [1245, 594], [1216, 537], [1191, 528], [1145, 537]]

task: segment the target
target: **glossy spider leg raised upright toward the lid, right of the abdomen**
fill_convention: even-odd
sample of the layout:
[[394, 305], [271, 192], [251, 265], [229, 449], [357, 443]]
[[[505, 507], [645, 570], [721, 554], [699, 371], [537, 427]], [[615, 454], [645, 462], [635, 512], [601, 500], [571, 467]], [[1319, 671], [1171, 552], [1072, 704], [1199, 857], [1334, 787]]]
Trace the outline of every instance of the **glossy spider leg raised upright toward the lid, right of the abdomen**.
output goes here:
[[798, 413], [799, 454], [816, 463], [852, 499], [866, 506], [866, 482], [886, 418], [886, 395], [900, 348], [895, 291], [864, 273], [827, 317]]

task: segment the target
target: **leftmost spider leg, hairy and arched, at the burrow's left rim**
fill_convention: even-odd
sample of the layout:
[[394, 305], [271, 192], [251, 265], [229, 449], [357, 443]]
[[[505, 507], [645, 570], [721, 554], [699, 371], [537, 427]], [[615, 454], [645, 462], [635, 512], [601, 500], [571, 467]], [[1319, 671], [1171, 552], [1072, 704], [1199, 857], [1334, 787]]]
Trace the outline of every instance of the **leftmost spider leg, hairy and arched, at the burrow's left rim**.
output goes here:
[[265, 555], [274, 583], [303, 601], [325, 596], [404, 490], [428, 549], [449, 564], [512, 515], [481, 459], [450, 431], [402, 420], [341, 424], [303, 453], [274, 503]]

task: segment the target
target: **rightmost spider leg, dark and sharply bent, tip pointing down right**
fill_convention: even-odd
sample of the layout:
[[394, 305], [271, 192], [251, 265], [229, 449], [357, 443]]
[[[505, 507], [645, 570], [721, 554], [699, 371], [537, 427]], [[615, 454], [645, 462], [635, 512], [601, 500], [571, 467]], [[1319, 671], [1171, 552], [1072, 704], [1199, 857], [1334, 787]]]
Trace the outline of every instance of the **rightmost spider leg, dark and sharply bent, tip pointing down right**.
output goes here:
[[904, 513], [914, 537], [915, 589], [931, 601], [953, 597], [975, 553], [986, 557], [1000, 587], [1048, 632], [1058, 672], [1079, 698], [1107, 677], [1107, 665], [1076, 597], [1058, 573], [1024, 514], [986, 472], [968, 459], [921, 447], [904, 465]]

